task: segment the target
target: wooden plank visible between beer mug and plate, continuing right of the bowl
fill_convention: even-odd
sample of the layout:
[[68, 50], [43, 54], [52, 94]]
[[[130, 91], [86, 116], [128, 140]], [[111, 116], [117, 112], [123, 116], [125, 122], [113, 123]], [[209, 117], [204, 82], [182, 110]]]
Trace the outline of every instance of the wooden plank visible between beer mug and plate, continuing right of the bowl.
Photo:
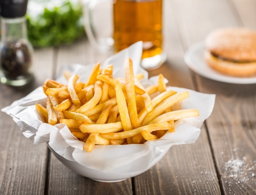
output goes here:
[[[167, 63], [150, 71], [149, 75], [162, 73], [169, 80], [167, 85], [195, 90], [190, 71], [183, 61], [184, 49], [173, 18], [176, 7], [171, 1], [164, 3]], [[201, 130], [195, 144], [171, 147], [156, 166], [136, 176], [136, 194], [220, 194], [207, 132], [204, 126]]]

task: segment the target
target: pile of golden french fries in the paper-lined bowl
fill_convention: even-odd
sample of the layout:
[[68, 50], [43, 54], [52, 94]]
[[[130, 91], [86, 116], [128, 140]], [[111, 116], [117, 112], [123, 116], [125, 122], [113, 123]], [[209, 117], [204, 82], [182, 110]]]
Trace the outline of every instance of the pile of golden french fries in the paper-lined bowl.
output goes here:
[[143, 75], [133, 74], [130, 58], [124, 67], [125, 78], [113, 78], [112, 65], [97, 63], [86, 83], [69, 72], [63, 72], [67, 85], [48, 79], [46, 107], [36, 104], [36, 109], [51, 125], [65, 123], [87, 152], [95, 144], [143, 144], [174, 132], [174, 121], [199, 116], [196, 109], [173, 110], [189, 93], [166, 90], [162, 74], [157, 85], [144, 88]]

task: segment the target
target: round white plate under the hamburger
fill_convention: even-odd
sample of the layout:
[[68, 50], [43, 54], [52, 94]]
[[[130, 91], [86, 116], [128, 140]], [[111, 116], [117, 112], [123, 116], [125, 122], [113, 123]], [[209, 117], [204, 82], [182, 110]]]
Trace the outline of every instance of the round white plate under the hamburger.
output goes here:
[[188, 49], [188, 51], [185, 53], [185, 56], [184, 56], [185, 63], [188, 65], [188, 67], [190, 67], [196, 73], [215, 81], [236, 83], [236, 84], [256, 83], [256, 77], [239, 78], [239, 77], [225, 76], [213, 70], [204, 61], [204, 50], [205, 50], [204, 42], [200, 42], [191, 46]]

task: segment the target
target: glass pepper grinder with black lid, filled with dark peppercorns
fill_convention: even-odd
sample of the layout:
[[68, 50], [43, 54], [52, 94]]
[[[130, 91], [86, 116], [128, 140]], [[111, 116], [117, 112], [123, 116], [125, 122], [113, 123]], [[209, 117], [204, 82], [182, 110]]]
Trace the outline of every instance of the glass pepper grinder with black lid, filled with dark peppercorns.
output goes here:
[[28, 0], [0, 0], [0, 82], [23, 86], [33, 80], [33, 48], [28, 41], [25, 14]]

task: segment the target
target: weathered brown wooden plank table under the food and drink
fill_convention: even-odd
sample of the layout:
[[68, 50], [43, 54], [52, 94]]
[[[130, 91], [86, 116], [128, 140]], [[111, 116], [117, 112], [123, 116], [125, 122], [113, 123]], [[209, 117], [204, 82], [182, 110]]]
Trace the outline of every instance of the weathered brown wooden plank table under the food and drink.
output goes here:
[[[195, 144], [173, 146], [147, 172], [118, 183], [100, 183], [66, 168], [46, 144], [32, 145], [11, 117], [0, 113], [0, 194], [256, 194], [256, 85], [204, 78], [184, 63], [185, 51], [213, 29], [256, 30], [254, 0], [165, 0], [167, 62], [150, 71], [168, 85], [216, 94], [212, 115]], [[70, 46], [35, 50], [36, 82], [0, 85], [0, 108], [24, 97], [63, 65], [104, 62], [107, 54], [86, 39]]]

